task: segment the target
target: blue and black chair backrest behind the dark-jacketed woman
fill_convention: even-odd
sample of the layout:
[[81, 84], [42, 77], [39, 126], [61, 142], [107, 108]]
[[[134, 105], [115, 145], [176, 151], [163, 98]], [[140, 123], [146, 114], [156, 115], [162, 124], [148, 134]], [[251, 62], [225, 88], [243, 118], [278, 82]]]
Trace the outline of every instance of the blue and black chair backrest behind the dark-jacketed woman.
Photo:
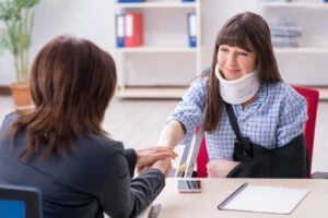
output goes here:
[[0, 184], [1, 218], [42, 218], [40, 192], [34, 187]]

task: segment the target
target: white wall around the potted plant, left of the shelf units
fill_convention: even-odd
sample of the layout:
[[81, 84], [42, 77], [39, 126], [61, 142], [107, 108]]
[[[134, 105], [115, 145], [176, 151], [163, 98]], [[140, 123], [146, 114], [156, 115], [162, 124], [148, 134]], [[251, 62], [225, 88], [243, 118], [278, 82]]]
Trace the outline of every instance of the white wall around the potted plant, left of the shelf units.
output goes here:
[[[110, 51], [114, 45], [113, 0], [40, 0], [35, 8], [31, 62], [52, 37], [72, 34]], [[14, 82], [10, 56], [0, 57], [0, 86]]]

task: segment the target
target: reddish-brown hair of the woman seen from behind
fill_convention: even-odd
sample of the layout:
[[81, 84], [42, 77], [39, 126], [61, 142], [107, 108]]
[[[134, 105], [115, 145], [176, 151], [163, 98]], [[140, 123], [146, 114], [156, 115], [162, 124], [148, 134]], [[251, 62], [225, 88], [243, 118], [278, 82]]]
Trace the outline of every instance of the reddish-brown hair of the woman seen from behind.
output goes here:
[[103, 135], [101, 123], [116, 88], [116, 68], [109, 53], [93, 43], [58, 36], [36, 56], [31, 69], [35, 110], [9, 129], [13, 136], [25, 130], [25, 159], [42, 152], [46, 159], [66, 153], [75, 136]]

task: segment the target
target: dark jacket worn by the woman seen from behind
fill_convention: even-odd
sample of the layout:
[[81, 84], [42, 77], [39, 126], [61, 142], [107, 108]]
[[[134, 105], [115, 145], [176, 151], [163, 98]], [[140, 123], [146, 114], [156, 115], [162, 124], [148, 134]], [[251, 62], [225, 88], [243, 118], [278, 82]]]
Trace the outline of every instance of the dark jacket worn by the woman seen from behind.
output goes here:
[[66, 156], [54, 154], [47, 160], [35, 155], [24, 162], [20, 154], [26, 145], [21, 131], [14, 146], [3, 138], [17, 116], [5, 117], [0, 130], [0, 182], [38, 187], [43, 194], [45, 218], [136, 217], [162, 191], [165, 178], [149, 169], [131, 180], [136, 152], [120, 142], [89, 134], [74, 138]]

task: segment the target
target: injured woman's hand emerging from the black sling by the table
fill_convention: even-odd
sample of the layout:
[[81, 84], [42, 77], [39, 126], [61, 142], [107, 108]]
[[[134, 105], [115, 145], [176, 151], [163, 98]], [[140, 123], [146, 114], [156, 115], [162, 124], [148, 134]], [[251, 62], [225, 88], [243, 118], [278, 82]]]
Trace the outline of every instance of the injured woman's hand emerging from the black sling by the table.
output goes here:
[[226, 159], [212, 160], [207, 165], [209, 178], [226, 178], [229, 172], [241, 162]]

